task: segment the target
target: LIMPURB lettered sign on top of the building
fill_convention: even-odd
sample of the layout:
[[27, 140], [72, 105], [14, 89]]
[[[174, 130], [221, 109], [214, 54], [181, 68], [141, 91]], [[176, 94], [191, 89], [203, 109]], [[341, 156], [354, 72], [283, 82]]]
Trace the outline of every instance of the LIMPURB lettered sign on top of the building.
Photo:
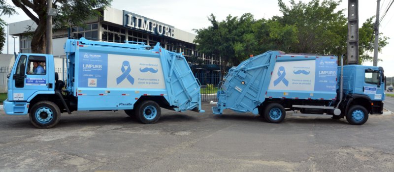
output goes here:
[[157, 35], [174, 38], [175, 29], [155, 20], [123, 10], [123, 26], [126, 28], [149, 31]]

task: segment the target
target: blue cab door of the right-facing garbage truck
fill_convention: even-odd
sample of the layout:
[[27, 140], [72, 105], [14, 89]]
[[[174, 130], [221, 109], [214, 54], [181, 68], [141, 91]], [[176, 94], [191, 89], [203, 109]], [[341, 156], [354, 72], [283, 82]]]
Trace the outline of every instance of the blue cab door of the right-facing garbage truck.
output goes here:
[[378, 70], [365, 69], [364, 86], [362, 90], [371, 100], [382, 100], [384, 87], [381, 85], [381, 76]]

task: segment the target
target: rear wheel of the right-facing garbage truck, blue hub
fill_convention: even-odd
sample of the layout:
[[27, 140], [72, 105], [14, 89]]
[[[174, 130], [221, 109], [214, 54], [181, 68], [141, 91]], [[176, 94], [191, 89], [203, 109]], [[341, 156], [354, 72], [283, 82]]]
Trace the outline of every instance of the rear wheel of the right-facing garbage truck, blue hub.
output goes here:
[[279, 103], [271, 103], [265, 106], [264, 118], [271, 123], [279, 123], [285, 119], [285, 108]]

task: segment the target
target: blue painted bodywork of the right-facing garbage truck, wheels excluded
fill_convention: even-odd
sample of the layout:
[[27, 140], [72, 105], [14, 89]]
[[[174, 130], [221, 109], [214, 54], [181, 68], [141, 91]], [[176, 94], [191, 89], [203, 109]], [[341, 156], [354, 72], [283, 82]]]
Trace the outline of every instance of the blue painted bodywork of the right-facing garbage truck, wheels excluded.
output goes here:
[[[362, 87], [365, 69], [378, 67], [348, 65], [344, 67], [344, 90], [346, 93], [364, 94]], [[340, 67], [335, 56], [311, 56], [285, 54], [268, 51], [251, 57], [238, 66], [232, 67], [219, 84], [218, 104], [214, 114], [222, 114], [224, 109], [236, 112], [258, 114], [258, 106], [267, 99], [326, 100], [334, 106], [339, 92]], [[377, 87], [377, 94], [384, 85]], [[371, 88], [372, 89], [372, 88]], [[378, 96], [379, 97], [379, 96]]]

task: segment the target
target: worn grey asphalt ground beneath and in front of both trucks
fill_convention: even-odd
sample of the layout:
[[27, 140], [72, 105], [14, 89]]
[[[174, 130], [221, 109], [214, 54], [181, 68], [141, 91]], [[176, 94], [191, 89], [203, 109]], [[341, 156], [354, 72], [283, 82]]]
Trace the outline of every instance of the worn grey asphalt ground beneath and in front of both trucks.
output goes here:
[[0, 171], [393, 172], [394, 115], [346, 119], [163, 110], [145, 125], [124, 112], [63, 114], [52, 129], [0, 111]]

